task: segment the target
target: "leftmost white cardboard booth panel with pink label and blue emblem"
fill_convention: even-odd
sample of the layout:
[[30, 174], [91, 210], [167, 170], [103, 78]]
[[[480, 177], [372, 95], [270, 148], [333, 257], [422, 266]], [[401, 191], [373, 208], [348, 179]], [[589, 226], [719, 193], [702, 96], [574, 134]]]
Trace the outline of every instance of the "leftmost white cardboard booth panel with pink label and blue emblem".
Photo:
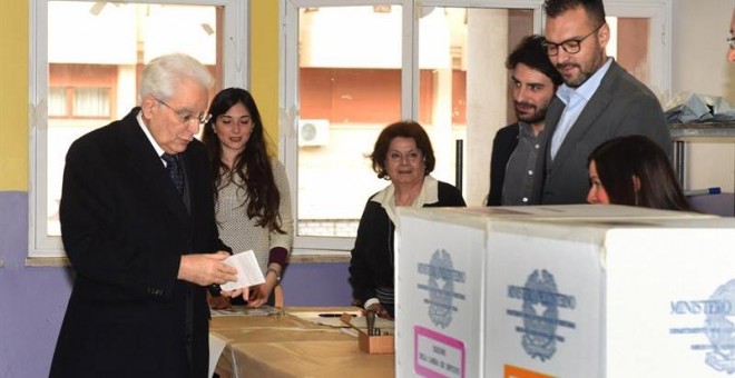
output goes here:
[[400, 220], [395, 280], [399, 377], [482, 376], [484, 222], [476, 217], [444, 216], [442, 221]]

